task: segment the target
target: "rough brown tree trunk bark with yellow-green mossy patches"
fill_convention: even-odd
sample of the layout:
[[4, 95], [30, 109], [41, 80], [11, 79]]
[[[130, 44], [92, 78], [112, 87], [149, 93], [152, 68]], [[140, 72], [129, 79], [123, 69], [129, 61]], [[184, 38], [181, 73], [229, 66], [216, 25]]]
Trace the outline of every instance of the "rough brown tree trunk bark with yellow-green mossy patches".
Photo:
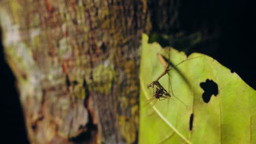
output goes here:
[[31, 143], [135, 143], [146, 1], [1, 1]]

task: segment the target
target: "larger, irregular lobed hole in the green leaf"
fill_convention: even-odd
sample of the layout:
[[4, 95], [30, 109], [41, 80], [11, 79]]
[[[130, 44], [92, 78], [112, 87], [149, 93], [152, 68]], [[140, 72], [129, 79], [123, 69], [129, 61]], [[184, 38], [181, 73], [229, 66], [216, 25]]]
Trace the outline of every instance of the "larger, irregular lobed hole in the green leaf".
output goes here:
[[202, 99], [205, 101], [205, 103], [209, 103], [211, 96], [214, 95], [217, 96], [218, 92], [218, 85], [213, 80], [207, 79], [206, 82], [201, 82], [200, 87], [205, 91], [202, 94]]

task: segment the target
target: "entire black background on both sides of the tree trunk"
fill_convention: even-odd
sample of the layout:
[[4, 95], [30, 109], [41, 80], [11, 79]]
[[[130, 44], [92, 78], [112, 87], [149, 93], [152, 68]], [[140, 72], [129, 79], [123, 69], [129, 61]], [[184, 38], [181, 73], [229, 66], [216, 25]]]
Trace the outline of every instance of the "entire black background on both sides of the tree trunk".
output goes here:
[[[254, 89], [255, 82], [255, 9], [249, 1], [179, 1], [178, 24], [172, 28], [161, 28], [157, 22], [158, 1], [148, 3], [152, 14], [152, 33], [174, 34], [183, 31], [185, 35], [200, 31], [203, 40], [187, 53], [205, 53], [217, 59], [225, 67], [235, 71]], [[167, 16], [171, 16], [167, 15]], [[182, 49], [182, 47], [175, 47]], [[0, 44], [1, 68], [1, 141], [27, 143], [24, 117], [15, 88], [15, 77], [4, 61], [3, 47]]]

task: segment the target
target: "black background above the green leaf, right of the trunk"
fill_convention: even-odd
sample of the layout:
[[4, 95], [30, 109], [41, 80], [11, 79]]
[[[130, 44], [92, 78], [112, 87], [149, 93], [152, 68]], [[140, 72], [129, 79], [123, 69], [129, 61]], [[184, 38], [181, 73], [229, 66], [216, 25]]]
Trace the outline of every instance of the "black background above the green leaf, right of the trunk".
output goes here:
[[[170, 9], [171, 2], [176, 8]], [[170, 0], [160, 4], [159, 1], [152, 0], [148, 5], [153, 23], [151, 36], [155, 33], [174, 35], [182, 31], [184, 37], [178, 39], [184, 39], [195, 32], [202, 34], [200, 43], [190, 46], [189, 49], [183, 49], [186, 44], [181, 45], [178, 42], [168, 44], [168, 40], [161, 38], [153, 41], [158, 41], [162, 46], [169, 45], [185, 51], [188, 55], [192, 52], [205, 53], [217, 59], [231, 72], [235, 71], [249, 86], [256, 89], [254, 60], [256, 11], [253, 2]], [[162, 8], [165, 5], [167, 8]], [[165, 20], [165, 17], [173, 17], [173, 9], [178, 11], [178, 17], [176, 22], [171, 23], [171, 18]], [[167, 15], [163, 16], [166, 13]], [[161, 21], [165, 24], [162, 25]]]

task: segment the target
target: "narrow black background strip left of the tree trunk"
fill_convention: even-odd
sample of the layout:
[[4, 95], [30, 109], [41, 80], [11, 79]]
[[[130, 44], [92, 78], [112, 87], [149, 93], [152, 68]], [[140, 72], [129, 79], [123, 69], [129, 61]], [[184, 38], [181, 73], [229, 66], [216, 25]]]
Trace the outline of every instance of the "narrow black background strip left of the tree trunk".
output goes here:
[[[1, 29], [0, 38], [2, 38]], [[19, 94], [16, 89], [15, 77], [9, 65], [5, 62], [1, 40], [0, 68], [1, 142], [28, 143], [24, 116], [21, 109]]]

